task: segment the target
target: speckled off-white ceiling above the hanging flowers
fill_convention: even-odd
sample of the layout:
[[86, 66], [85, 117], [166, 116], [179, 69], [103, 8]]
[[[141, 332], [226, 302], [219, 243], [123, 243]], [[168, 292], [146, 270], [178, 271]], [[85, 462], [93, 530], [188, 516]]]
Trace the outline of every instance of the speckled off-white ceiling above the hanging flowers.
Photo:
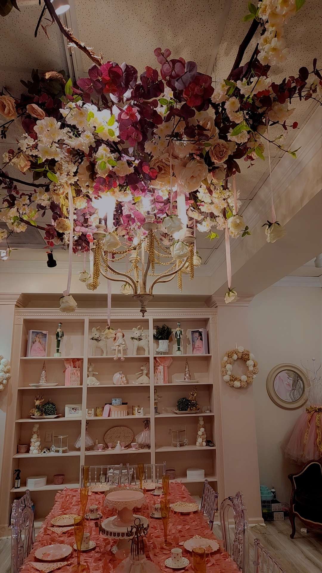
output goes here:
[[[47, 29], [48, 38], [42, 29], [34, 38], [34, 29], [41, 8], [27, 0], [19, 2], [21, 12], [12, 10], [9, 16], [0, 19], [2, 42], [2, 62], [0, 65], [0, 84], [5, 85], [13, 95], [19, 95], [22, 86], [19, 79], [29, 79], [32, 68], [41, 71], [65, 69], [68, 72], [68, 59], [64, 41], [56, 25]], [[119, 63], [127, 61], [135, 65], [139, 73], [146, 65], [157, 66], [154, 49], [170, 48], [173, 57], [194, 60], [198, 69], [211, 73], [217, 81], [227, 77], [233, 65], [238, 46], [248, 30], [248, 23], [242, 22], [247, 12], [244, 0], [70, 0], [69, 17], [74, 33], [86, 45], [92, 46], [104, 54], [105, 61]], [[49, 23], [49, 21], [44, 22]], [[300, 13], [291, 17], [285, 29], [285, 40], [289, 48], [289, 57], [282, 68], [272, 69], [276, 81], [286, 75], [296, 73], [300, 66], [312, 66], [313, 57], [322, 60], [320, 42], [322, 18], [316, 10], [316, 2], [307, 0]], [[257, 37], [250, 44], [245, 57], [252, 53]], [[246, 61], [244, 59], [244, 61]], [[78, 73], [84, 75], [92, 65], [84, 54], [78, 54]], [[316, 107], [314, 101], [296, 101], [292, 104], [295, 111], [293, 121], [303, 127]], [[14, 144], [20, 131], [11, 130], [6, 142], [0, 142], [0, 153], [7, 149], [8, 143]], [[288, 144], [298, 134], [292, 130]], [[266, 151], [265, 151], [266, 155]], [[283, 153], [272, 146], [272, 167], [276, 166]], [[246, 211], [257, 191], [268, 177], [268, 162], [257, 160], [252, 168], [241, 162], [241, 175], [237, 186], [242, 199], [241, 211]], [[19, 237], [21, 240], [22, 237]], [[222, 237], [211, 243], [199, 234], [197, 247], [204, 263], [210, 260], [214, 264], [216, 249]], [[41, 241], [40, 241], [41, 244]]]

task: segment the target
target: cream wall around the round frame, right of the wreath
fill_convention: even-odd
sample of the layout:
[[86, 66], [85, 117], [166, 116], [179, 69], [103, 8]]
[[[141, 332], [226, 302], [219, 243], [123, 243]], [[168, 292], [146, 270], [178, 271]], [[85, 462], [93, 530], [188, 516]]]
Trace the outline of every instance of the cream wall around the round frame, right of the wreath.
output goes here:
[[260, 367], [253, 384], [260, 482], [273, 484], [280, 501], [289, 501], [287, 476], [299, 467], [285, 460], [281, 446], [305, 406], [276, 406], [266, 392], [266, 377], [277, 364], [301, 366], [300, 360], [322, 356], [321, 302], [321, 288], [272, 286], [249, 306], [250, 351]]

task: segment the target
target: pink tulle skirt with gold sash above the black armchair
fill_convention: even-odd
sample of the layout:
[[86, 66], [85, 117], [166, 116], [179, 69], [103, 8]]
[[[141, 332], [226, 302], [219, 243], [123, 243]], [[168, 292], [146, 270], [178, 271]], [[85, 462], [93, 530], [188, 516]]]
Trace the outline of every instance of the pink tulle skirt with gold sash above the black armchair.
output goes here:
[[[321, 453], [316, 444], [316, 417], [317, 412], [313, 412], [309, 421], [309, 431], [307, 441], [305, 442], [305, 433], [308, 429], [309, 413], [304, 412], [294, 425], [289, 442], [285, 448], [285, 454], [297, 462], [308, 462], [309, 460], [319, 460]], [[322, 418], [322, 416], [321, 416]], [[322, 422], [322, 419], [321, 419]]]

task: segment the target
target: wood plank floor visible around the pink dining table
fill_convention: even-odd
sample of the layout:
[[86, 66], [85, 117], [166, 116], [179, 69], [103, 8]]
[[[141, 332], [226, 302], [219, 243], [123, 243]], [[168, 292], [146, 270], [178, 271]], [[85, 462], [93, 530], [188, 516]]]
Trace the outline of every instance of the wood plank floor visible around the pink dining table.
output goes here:
[[[301, 523], [296, 523], [296, 536], [290, 539], [288, 520], [273, 521], [265, 526], [250, 528], [249, 573], [253, 573], [253, 543], [258, 537], [262, 545], [277, 559], [286, 573], [321, 573], [322, 533], [301, 533]], [[219, 525], [214, 525], [214, 533], [221, 538]], [[0, 539], [0, 573], [10, 573], [10, 539]]]

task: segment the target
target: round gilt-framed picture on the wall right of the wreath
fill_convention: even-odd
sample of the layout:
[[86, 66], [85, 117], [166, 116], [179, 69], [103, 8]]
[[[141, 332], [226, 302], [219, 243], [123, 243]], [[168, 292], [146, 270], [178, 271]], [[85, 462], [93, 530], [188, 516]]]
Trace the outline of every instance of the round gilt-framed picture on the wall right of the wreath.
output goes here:
[[266, 379], [267, 393], [280, 408], [297, 410], [307, 402], [305, 390], [310, 386], [307, 374], [296, 364], [277, 364]]

